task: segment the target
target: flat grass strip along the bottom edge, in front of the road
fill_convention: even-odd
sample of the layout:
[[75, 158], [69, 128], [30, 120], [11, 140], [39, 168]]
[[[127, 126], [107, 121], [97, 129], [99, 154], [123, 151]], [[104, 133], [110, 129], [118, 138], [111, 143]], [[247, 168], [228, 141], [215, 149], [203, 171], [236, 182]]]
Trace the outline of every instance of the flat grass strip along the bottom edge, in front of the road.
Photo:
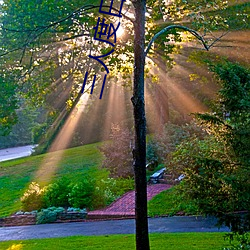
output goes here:
[[[223, 233], [151, 234], [151, 250], [221, 250], [228, 246]], [[74, 236], [0, 242], [1, 250], [135, 249], [134, 235]]]

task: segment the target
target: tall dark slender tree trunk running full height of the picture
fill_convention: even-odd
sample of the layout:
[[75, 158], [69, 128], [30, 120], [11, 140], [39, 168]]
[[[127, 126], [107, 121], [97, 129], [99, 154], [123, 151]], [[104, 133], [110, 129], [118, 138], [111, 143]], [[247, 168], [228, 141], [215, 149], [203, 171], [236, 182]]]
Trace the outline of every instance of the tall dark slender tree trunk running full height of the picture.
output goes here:
[[135, 173], [136, 249], [149, 250], [146, 180], [146, 117], [144, 103], [146, 0], [137, 0], [134, 1], [133, 4], [135, 7], [135, 38], [132, 103], [134, 107], [135, 126], [133, 158]]

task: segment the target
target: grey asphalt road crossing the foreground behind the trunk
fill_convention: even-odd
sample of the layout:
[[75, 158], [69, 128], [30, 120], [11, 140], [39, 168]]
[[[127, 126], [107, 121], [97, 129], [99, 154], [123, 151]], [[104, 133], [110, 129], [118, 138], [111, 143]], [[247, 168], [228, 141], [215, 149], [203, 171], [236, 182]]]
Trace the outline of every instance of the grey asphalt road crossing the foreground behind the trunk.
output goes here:
[[[228, 232], [227, 227], [218, 229], [214, 218], [195, 216], [174, 216], [165, 218], [149, 218], [150, 233], [170, 232]], [[94, 222], [75, 222], [59, 224], [43, 224], [33, 226], [2, 227], [0, 241], [24, 240], [39, 238], [57, 238], [74, 235], [111, 235], [134, 234], [135, 220], [109, 220]]]

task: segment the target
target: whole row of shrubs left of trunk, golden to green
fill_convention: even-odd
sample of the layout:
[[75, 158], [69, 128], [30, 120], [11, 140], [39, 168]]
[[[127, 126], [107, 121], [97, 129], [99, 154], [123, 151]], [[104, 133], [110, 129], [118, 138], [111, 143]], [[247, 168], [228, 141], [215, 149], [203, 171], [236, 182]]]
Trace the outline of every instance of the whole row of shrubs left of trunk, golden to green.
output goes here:
[[22, 198], [22, 202], [31, 206], [34, 201], [35, 207], [26, 210], [27, 205], [23, 206], [24, 211], [59, 206], [97, 209], [109, 205], [124, 193], [134, 189], [134, 181], [131, 178], [113, 179], [101, 174], [95, 177], [88, 174], [84, 176], [84, 180], [75, 181], [62, 177], [43, 189], [37, 183], [32, 183], [23, 195], [26, 199]]

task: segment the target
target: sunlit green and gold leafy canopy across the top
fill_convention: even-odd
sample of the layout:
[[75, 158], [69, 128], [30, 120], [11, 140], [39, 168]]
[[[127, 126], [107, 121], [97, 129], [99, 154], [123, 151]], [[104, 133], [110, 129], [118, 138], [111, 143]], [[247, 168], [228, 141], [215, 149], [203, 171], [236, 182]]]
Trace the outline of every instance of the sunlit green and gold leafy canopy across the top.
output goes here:
[[[12, 72], [15, 81], [11, 88], [18, 89], [19, 94], [35, 106], [43, 104], [51, 93], [56, 93], [60, 88], [67, 92], [68, 102], [74, 102], [82, 85], [84, 71], [87, 70], [86, 65], [96, 72], [100, 71], [100, 67], [89, 60], [88, 51], [101, 53], [109, 49], [105, 43], [95, 44], [92, 40], [91, 27], [96, 24], [96, 6], [99, 4], [96, 0], [84, 5], [79, 0], [70, 3], [65, 0], [3, 1], [0, 5], [0, 68], [5, 73]], [[131, 5], [131, 2], [124, 3], [130, 17], [134, 15]], [[183, 20], [186, 25], [209, 33], [209, 30], [228, 29], [235, 24], [235, 20], [237, 28], [244, 27], [249, 18], [247, 3], [228, 6], [227, 1], [147, 1], [147, 8], [146, 43], [162, 28]], [[103, 58], [107, 65], [112, 66], [112, 77], [120, 72], [127, 79], [124, 85], [131, 84], [133, 71], [134, 30], [131, 19], [124, 16], [122, 22], [126, 35], [119, 38], [114, 53]], [[112, 17], [110, 21], [114, 21]], [[168, 65], [173, 61], [170, 55], [178, 47], [173, 40], [182, 40], [178, 30], [173, 29], [159, 37], [151, 50], [160, 53]], [[126, 56], [126, 62], [121, 54]], [[14, 101], [15, 91], [11, 92]], [[15, 109], [12, 108], [13, 115]], [[13, 118], [8, 116], [8, 119]], [[15, 122], [8, 121], [9, 125]]]

